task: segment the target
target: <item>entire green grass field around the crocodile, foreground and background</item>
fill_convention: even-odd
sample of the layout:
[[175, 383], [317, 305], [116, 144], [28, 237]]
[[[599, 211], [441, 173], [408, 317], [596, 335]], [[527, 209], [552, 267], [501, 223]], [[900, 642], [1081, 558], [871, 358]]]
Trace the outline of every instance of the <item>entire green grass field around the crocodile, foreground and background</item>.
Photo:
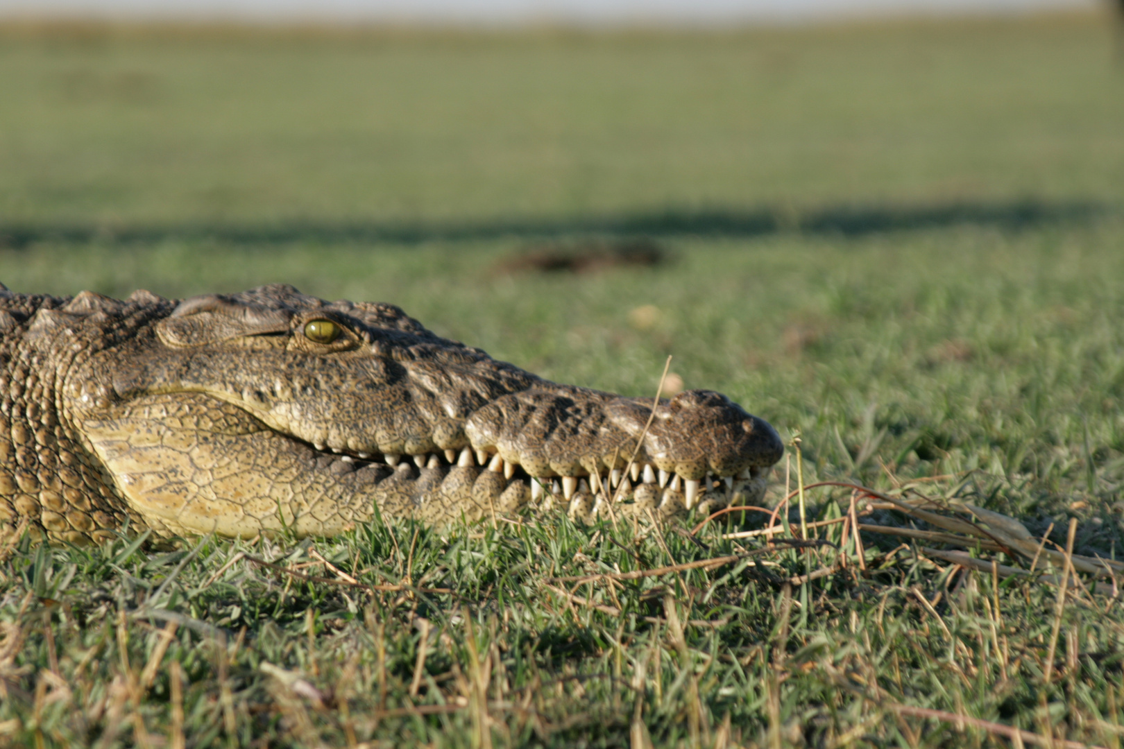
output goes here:
[[[806, 484], [970, 502], [1061, 547], [1076, 518], [1076, 550], [1116, 558], [1124, 67], [1102, 21], [0, 27], [0, 281], [287, 282], [635, 395], [672, 355], [799, 433]], [[665, 262], [502, 265], [636, 237]], [[770, 506], [785, 483], [782, 463]], [[807, 494], [809, 520], [849, 510]], [[1112, 583], [1055, 611], [1057, 585], [995, 585], [935, 542], [723, 538], [762, 524], [25, 541], [0, 552], [0, 746], [1007, 743], [918, 710], [1120, 746]], [[783, 585], [809, 568], [833, 572]]]

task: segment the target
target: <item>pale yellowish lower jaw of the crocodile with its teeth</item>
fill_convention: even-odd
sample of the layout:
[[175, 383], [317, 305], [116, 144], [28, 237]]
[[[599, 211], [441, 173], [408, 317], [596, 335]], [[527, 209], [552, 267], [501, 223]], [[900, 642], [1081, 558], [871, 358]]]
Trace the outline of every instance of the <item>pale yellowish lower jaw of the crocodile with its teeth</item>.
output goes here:
[[356, 451], [273, 429], [198, 392], [144, 395], [85, 419], [82, 429], [144, 522], [180, 536], [335, 535], [372, 519], [375, 509], [438, 524], [528, 505], [584, 522], [618, 509], [671, 517], [760, 500], [768, 472], [750, 465], [689, 478], [655, 460], [619, 458], [619, 468], [533, 475], [497, 448]]

